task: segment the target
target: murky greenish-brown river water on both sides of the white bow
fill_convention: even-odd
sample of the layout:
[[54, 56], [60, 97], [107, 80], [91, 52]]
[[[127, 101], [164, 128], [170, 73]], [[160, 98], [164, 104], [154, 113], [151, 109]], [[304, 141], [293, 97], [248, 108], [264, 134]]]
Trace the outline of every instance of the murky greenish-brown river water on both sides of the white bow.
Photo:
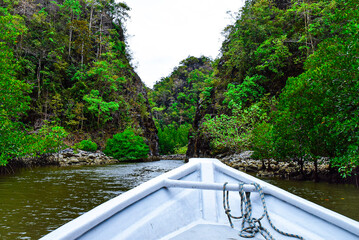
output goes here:
[[[0, 177], [0, 239], [38, 239], [99, 204], [182, 165], [162, 160], [106, 166], [23, 169]], [[264, 179], [359, 220], [352, 185]]]

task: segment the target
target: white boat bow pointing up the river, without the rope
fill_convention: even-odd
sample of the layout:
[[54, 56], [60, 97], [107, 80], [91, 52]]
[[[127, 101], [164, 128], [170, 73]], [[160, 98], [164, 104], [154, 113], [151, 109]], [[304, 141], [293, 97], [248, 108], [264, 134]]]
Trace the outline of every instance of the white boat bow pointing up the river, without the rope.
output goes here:
[[[179, 181], [178, 181], [179, 180]], [[242, 219], [228, 223], [221, 186], [257, 183], [278, 229], [304, 239], [359, 239], [359, 223], [290, 194], [216, 159], [189, 163], [96, 207], [42, 239], [242, 239]], [[220, 187], [218, 187], [220, 186]], [[234, 190], [234, 189], [232, 189]], [[248, 191], [253, 191], [248, 190]], [[229, 193], [231, 214], [241, 215], [240, 195]], [[251, 193], [252, 216], [263, 214], [258, 192]], [[293, 239], [261, 225], [276, 239]], [[246, 239], [246, 238], [243, 238]], [[260, 233], [255, 238], [264, 239]]]

